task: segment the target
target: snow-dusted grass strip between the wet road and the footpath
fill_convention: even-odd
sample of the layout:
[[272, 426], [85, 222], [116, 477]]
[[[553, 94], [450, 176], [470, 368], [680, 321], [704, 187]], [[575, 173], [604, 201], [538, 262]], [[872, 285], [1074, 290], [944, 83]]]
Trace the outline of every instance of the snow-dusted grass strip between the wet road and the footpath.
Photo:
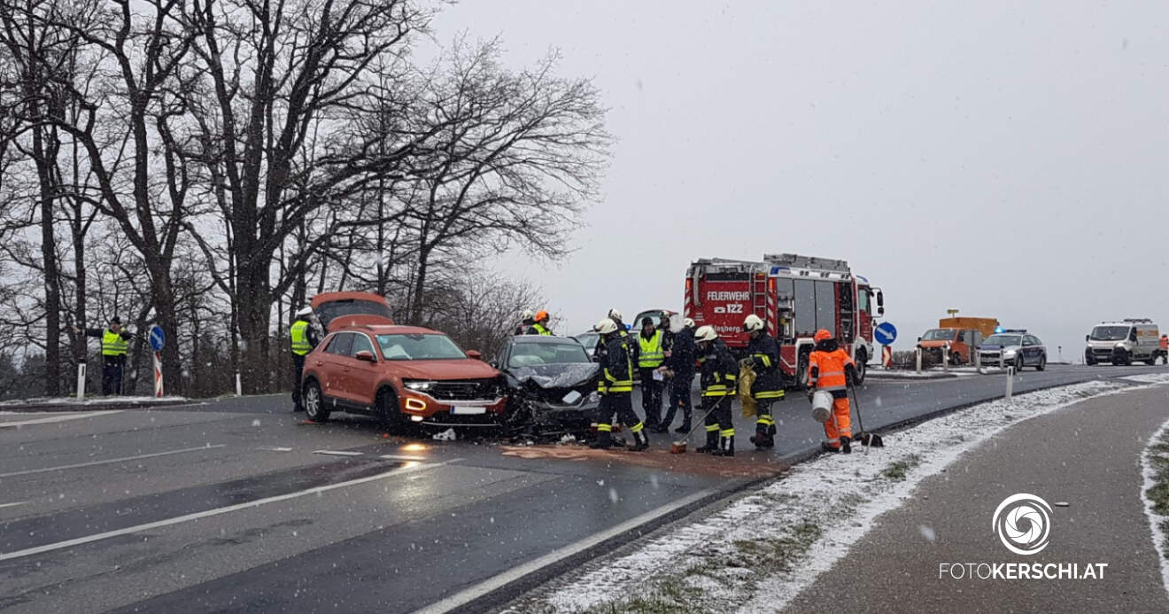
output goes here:
[[[1169, 374], [1148, 382], [1169, 382]], [[1126, 388], [1132, 385], [1090, 381], [1016, 395], [888, 434], [886, 448], [819, 456], [549, 582], [514, 612], [777, 612], [878, 516], [966, 451], [1023, 420]], [[933, 534], [928, 526], [921, 532]]]

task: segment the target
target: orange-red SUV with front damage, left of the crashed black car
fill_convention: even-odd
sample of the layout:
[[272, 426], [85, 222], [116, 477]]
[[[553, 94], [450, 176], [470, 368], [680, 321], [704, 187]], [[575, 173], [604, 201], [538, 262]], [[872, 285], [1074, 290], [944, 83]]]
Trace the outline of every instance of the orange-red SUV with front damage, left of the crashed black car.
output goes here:
[[336, 330], [305, 357], [304, 408], [310, 420], [332, 412], [380, 418], [387, 426], [496, 426], [504, 382], [476, 351], [419, 326]]

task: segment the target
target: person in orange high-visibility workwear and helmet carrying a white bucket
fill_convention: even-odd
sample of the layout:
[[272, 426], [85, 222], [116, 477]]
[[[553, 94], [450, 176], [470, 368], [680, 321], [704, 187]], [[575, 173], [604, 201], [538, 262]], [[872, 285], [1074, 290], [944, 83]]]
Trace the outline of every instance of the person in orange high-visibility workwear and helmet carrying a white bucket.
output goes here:
[[849, 414], [849, 384], [856, 380], [857, 365], [831, 333], [821, 329], [812, 337], [816, 349], [808, 357], [808, 396], [816, 391], [832, 393], [832, 416], [824, 422], [824, 451], [849, 454], [852, 446], [852, 416]]

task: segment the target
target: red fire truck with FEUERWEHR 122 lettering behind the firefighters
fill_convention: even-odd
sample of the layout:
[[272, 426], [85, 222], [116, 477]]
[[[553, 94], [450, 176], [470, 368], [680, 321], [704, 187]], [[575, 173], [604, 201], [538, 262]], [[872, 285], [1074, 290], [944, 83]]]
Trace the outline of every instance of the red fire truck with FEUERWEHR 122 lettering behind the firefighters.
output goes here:
[[711, 325], [732, 351], [747, 346], [742, 320], [755, 313], [780, 344], [784, 384], [808, 381], [812, 334], [824, 329], [857, 363], [863, 381], [873, 356], [873, 323], [885, 315], [885, 297], [849, 263], [796, 254], [765, 255], [762, 262], [698, 260], [686, 271], [685, 317]]

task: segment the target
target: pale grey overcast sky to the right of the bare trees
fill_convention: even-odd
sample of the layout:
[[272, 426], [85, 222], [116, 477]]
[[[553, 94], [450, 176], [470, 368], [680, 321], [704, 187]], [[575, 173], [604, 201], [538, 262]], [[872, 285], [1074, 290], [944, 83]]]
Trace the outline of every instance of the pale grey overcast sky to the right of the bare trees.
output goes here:
[[[576, 332], [680, 309], [697, 257], [845, 258], [912, 346], [946, 309], [1065, 358], [1093, 323], [1169, 327], [1169, 5], [472, 0], [593, 76], [618, 139], [559, 265], [510, 256]], [[535, 306], [535, 305], [534, 305]]]

